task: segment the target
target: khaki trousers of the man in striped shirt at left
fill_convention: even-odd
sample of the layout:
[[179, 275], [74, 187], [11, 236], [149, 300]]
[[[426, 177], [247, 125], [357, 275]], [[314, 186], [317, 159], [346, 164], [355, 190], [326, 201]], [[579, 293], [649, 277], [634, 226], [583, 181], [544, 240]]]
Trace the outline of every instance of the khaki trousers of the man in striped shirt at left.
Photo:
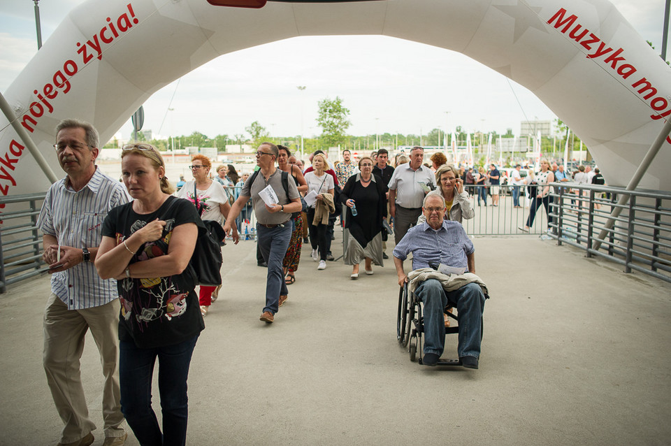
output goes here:
[[106, 437], [124, 435], [119, 391], [119, 299], [99, 307], [68, 310], [51, 294], [44, 311], [43, 366], [56, 409], [65, 424], [61, 443], [74, 443], [96, 429], [89, 419], [80, 373], [87, 330], [98, 346], [105, 382], [103, 421]]

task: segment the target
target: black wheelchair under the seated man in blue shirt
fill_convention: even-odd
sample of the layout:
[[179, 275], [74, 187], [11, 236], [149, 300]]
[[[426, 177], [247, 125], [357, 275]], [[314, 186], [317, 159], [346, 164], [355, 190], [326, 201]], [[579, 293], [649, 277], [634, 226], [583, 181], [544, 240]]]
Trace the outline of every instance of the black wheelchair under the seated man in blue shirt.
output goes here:
[[[449, 302], [449, 306], [456, 308], [456, 303]], [[447, 317], [459, 323], [459, 315], [445, 311]], [[410, 361], [416, 361], [419, 352], [421, 362], [422, 347], [421, 334], [424, 333], [424, 317], [421, 315], [421, 299], [414, 293], [408, 292], [407, 283], [398, 291], [398, 312], [396, 314], [396, 339], [398, 343], [407, 347], [410, 352]], [[459, 326], [446, 326], [445, 334], [459, 333]], [[461, 366], [460, 359], [439, 359], [436, 366]]]

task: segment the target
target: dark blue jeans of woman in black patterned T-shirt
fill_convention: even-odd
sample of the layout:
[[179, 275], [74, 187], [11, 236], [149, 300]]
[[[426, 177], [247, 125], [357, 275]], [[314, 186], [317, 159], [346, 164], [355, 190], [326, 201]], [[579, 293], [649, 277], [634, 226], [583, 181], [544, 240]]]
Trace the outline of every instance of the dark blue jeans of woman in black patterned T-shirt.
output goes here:
[[[196, 340], [198, 336], [154, 348], [139, 348], [133, 341], [120, 341], [121, 410], [140, 445], [183, 446], [187, 443], [187, 378]], [[152, 409], [152, 375], [157, 358], [163, 433]]]

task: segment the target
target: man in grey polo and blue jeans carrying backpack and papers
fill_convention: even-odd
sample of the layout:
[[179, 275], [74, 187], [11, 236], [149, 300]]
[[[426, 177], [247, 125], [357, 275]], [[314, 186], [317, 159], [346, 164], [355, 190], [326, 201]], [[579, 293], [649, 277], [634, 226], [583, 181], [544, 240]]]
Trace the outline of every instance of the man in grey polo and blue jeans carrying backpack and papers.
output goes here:
[[[286, 172], [275, 167], [279, 153], [277, 145], [273, 143], [259, 145], [256, 153], [259, 170], [245, 181], [240, 196], [231, 206], [229, 218], [224, 224], [224, 231], [228, 234], [240, 210], [250, 198], [252, 199], [254, 214], [257, 216], [257, 243], [264, 261], [268, 264], [266, 306], [259, 319], [268, 324], [275, 320], [275, 313], [280, 306], [280, 295], [289, 295], [287, 284], [284, 282], [282, 259], [287, 253], [291, 232], [294, 231], [291, 213], [300, 212], [303, 207], [296, 183], [287, 179]], [[268, 186], [272, 187], [277, 195], [277, 203], [270, 206], [261, 198], [261, 192]]]

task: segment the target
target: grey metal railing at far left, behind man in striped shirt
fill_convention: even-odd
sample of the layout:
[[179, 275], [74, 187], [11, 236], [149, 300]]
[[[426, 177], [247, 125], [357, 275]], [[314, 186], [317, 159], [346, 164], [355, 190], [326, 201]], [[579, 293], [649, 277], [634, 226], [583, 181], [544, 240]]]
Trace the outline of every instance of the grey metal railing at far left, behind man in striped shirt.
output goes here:
[[11, 208], [1, 213], [0, 293], [6, 292], [7, 285], [47, 271], [42, 261], [42, 237], [36, 226], [44, 196], [41, 192], [0, 199], [4, 208]]

